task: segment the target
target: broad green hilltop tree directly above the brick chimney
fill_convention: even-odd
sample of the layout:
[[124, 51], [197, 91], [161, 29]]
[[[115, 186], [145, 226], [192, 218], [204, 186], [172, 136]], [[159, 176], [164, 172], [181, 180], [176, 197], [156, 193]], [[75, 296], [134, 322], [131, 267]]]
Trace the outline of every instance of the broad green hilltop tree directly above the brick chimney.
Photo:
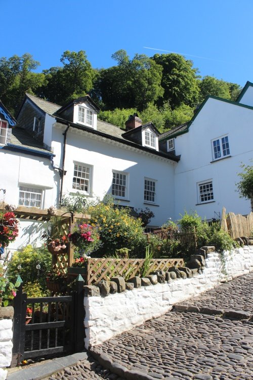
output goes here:
[[112, 54], [117, 66], [102, 69], [97, 83], [107, 109], [137, 108], [143, 110], [163, 94], [160, 85], [162, 67], [145, 54], [131, 60], [124, 50]]

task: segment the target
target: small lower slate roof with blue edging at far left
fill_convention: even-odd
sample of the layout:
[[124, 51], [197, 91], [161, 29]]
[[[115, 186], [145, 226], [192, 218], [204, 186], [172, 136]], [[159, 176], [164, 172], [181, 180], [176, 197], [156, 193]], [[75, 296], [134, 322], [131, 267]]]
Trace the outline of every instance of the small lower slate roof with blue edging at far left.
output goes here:
[[32, 136], [27, 134], [26, 130], [19, 127], [12, 128], [11, 144], [50, 153], [50, 150], [45, 149], [43, 144], [36, 141]]

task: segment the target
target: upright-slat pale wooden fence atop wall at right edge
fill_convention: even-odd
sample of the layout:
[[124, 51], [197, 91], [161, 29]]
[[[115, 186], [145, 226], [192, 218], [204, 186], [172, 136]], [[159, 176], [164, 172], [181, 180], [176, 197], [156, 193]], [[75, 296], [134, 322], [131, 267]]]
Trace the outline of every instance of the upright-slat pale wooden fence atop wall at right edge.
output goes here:
[[253, 231], [253, 212], [246, 216], [233, 212], [226, 215], [226, 209], [223, 207], [221, 226], [233, 239], [243, 236], [249, 237]]

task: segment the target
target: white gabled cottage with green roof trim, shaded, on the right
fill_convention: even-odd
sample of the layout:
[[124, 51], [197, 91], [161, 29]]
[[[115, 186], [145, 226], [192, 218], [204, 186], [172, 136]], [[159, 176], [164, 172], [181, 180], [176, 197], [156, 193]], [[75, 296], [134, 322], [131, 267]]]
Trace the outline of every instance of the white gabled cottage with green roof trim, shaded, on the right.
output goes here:
[[180, 155], [175, 168], [175, 215], [197, 211], [207, 219], [227, 212], [248, 214], [250, 201], [236, 191], [241, 163], [253, 158], [253, 84], [236, 102], [208, 96], [189, 123], [159, 136], [168, 152]]

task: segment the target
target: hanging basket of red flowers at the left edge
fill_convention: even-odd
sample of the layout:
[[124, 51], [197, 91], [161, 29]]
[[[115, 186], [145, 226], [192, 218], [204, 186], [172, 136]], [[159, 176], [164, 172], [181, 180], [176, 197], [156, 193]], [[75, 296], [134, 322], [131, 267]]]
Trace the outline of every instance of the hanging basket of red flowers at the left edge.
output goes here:
[[18, 219], [13, 212], [0, 212], [0, 248], [8, 247], [18, 236]]

